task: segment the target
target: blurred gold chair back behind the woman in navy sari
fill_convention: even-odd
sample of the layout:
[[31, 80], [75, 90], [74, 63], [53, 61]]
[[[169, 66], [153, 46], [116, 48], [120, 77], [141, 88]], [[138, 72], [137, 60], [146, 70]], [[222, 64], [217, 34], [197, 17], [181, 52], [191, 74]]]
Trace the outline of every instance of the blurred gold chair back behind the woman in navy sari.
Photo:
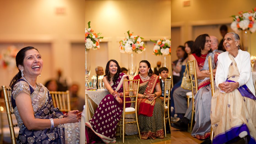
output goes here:
[[69, 91], [50, 91], [53, 106], [59, 108], [61, 111], [70, 111], [70, 97]]

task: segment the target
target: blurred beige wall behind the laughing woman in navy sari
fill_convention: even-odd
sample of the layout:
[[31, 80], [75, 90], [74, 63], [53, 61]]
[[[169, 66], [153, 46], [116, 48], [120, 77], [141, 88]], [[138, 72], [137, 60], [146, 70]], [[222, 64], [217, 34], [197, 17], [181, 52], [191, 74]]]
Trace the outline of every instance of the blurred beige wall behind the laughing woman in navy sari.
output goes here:
[[[82, 0], [0, 0], [0, 51], [9, 45], [39, 48], [44, 68], [38, 81], [45, 83], [62, 69], [64, 77], [80, 85], [84, 97], [84, 5]], [[17, 69], [0, 67], [0, 72], [0, 85], [9, 85]]]

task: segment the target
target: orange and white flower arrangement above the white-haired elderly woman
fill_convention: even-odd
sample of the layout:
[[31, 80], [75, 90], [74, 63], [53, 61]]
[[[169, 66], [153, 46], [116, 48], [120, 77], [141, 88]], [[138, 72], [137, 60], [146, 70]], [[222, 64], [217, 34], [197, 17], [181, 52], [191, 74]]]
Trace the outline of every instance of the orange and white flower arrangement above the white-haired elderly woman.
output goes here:
[[233, 22], [230, 27], [238, 32], [239, 30], [250, 30], [251, 33], [256, 31], [256, 7], [252, 11], [240, 11], [239, 15], [233, 15]]

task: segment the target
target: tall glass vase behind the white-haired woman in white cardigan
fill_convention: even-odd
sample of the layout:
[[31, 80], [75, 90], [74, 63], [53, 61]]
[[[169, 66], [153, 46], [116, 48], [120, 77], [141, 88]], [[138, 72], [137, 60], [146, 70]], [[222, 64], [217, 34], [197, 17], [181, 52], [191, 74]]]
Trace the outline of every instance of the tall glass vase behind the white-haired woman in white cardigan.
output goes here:
[[241, 50], [251, 54], [251, 33], [249, 30], [242, 31]]

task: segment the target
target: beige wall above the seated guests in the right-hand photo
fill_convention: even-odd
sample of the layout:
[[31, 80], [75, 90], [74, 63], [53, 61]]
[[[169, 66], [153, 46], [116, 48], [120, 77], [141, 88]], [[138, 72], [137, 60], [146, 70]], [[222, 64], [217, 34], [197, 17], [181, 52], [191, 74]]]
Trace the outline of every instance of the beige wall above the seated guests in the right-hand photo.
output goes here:
[[[189, 40], [195, 40], [197, 34], [208, 33], [216, 35], [220, 40], [222, 36], [219, 33], [221, 24], [228, 25], [228, 31], [231, 32], [230, 24], [232, 15], [238, 15], [239, 11], [248, 11], [256, 7], [254, 0], [190, 0], [190, 6], [184, 7], [183, 1], [171, 0], [171, 27], [179, 27], [178, 33], [180, 43], [172, 41], [172, 51], [176, 51], [176, 46], [184, 44]], [[256, 34], [251, 36], [252, 54], [256, 55]], [[172, 56], [175, 60], [176, 56]]]

